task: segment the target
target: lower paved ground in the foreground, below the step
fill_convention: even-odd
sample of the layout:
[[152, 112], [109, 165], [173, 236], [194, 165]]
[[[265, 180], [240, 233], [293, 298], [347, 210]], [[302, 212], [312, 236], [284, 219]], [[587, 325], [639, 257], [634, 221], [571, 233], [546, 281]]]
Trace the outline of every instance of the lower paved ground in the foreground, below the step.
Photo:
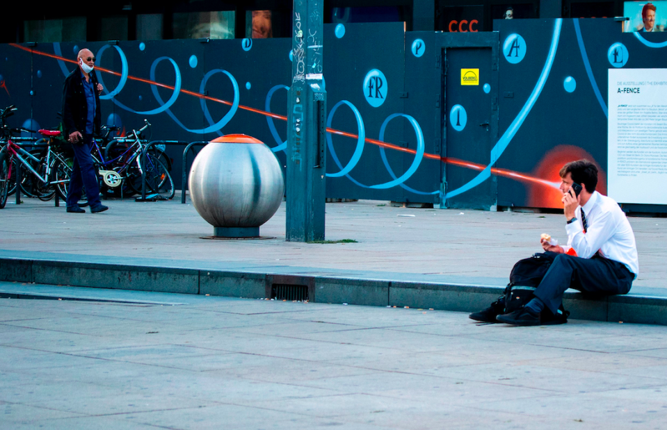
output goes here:
[[0, 429], [667, 422], [664, 326], [511, 327], [428, 309], [60, 290], [111, 301], [0, 299]]

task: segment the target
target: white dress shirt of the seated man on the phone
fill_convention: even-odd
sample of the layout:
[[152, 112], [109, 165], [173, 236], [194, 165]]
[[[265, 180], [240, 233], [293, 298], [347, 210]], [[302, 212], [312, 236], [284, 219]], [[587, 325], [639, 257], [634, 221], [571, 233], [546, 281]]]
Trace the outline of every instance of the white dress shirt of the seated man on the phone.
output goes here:
[[604, 258], [618, 261], [635, 276], [639, 274], [637, 245], [632, 227], [618, 203], [594, 191], [583, 207], [586, 214], [586, 233], [581, 224], [581, 206], [575, 214], [577, 220], [565, 225], [568, 232], [568, 246], [574, 248], [577, 256], [590, 258], [597, 251]]

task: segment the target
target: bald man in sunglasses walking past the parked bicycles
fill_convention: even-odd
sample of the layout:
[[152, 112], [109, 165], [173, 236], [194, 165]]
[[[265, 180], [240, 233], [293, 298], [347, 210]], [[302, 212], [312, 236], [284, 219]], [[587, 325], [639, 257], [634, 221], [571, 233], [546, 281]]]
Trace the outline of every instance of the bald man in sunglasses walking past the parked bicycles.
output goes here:
[[93, 73], [93, 53], [89, 49], [81, 49], [77, 61], [79, 67], [67, 75], [63, 85], [64, 137], [74, 149], [74, 165], [70, 186], [67, 188], [67, 212], [86, 212], [79, 206], [82, 187], [85, 185], [90, 212], [99, 213], [109, 208], [99, 201], [99, 185], [90, 151], [93, 149], [93, 133], [99, 133], [102, 123], [99, 94], [104, 88], [97, 83], [97, 76]]

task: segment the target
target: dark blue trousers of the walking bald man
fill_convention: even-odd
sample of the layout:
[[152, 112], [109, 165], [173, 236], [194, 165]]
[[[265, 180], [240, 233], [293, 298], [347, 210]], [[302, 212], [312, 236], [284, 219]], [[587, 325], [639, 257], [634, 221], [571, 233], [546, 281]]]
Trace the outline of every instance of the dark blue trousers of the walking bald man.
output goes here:
[[99, 201], [99, 185], [97, 184], [95, 166], [93, 166], [93, 156], [90, 155], [90, 151], [93, 149], [93, 136], [83, 135], [83, 143], [72, 144], [72, 149], [74, 149], [74, 165], [72, 165], [70, 186], [67, 188], [67, 207], [79, 204], [83, 186], [86, 187], [90, 207], [98, 206], [101, 204]]

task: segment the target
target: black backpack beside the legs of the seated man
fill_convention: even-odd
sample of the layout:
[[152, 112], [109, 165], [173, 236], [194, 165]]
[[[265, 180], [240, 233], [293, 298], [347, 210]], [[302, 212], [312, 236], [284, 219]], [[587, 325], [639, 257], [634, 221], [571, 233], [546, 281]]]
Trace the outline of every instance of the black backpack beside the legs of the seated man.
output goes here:
[[[517, 261], [510, 272], [510, 283], [505, 288], [505, 313], [516, 311], [535, 297], [533, 292], [540, 285], [557, 255], [555, 252], [547, 251]], [[563, 304], [558, 307], [558, 314], [556, 316], [549, 311], [549, 308], [545, 308], [542, 312], [542, 320], [545, 322], [545, 320], [553, 320], [556, 317], [567, 318], [570, 315], [563, 308]]]

